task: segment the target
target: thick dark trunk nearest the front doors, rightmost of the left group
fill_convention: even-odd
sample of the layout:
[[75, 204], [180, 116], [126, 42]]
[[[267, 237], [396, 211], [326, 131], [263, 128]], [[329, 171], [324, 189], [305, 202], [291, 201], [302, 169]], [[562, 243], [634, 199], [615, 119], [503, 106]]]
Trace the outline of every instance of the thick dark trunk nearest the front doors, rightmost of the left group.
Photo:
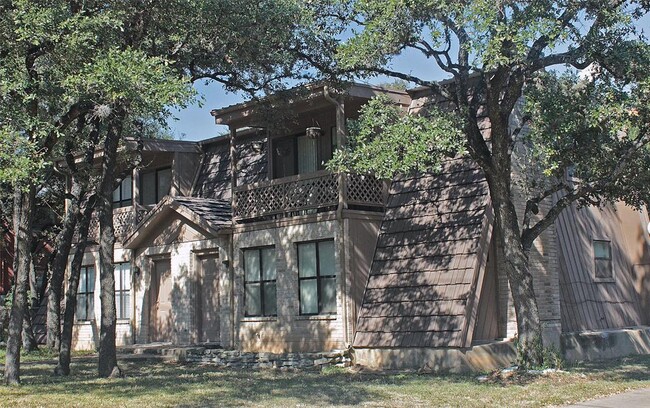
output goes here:
[[[118, 115], [119, 117], [120, 115]], [[120, 376], [117, 366], [117, 351], [115, 347], [115, 329], [117, 323], [115, 310], [115, 275], [113, 273], [113, 246], [115, 232], [113, 228], [113, 183], [115, 180], [115, 163], [119, 144], [121, 124], [109, 128], [104, 142], [104, 157], [102, 161], [102, 176], [98, 196], [99, 218], [99, 283], [101, 301], [101, 322], [99, 330], [99, 366], [100, 377]]]

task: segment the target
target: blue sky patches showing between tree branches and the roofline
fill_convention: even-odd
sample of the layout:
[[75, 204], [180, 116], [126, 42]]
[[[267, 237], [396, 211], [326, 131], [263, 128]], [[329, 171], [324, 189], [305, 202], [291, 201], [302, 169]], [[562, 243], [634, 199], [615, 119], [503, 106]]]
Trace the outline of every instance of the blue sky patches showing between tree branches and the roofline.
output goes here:
[[[646, 15], [639, 20], [637, 28], [644, 31], [646, 35], [650, 34], [650, 15]], [[434, 69], [434, 66], [433, 61], [428, 61], [418, 51], [409, 50], [397, 57], [393, 61], [391, 68], [395, 71], [413, 74], [425, 80], [437, 81], [448, 78], [444, 72]], [[378, 76], [358, 82], [377, 85], [394, 82], [394, 79]], [[246, 97], [243, 94], [226, 92], [223, 86], [217, 82], [197, 83], [195, 88], [202, 104], [199, 106], [199, 103], [194, 103], [186, 109], [173, 111], [172, 118], [167, 121], [172, 136], [178, 140], [196, 141], [228, 133], [227, 126], [214, 123], [210, 111], [245, 102]]]

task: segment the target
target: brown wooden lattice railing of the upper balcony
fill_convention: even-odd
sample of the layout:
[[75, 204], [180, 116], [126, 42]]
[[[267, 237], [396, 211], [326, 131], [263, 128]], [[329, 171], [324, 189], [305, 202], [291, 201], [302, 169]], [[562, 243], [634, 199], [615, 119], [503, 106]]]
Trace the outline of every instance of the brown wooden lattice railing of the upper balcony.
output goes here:
[[239, 186], [233, 193], [233, 216], [245, 222], [330, 211], [340, 203], [383, 211], [387, 185], [372, 176], [319, 171]]

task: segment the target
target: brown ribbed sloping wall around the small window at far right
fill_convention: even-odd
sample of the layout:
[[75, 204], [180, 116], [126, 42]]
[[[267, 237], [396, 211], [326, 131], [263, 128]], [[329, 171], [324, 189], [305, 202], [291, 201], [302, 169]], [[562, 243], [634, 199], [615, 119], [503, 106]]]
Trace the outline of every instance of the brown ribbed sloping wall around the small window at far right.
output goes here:
[[[563, 332], [647, 322], [643, 309], [647, 306], [643, 302], [648, 295], [643, 293], [643, 281], [647, 279], [646, 265], [650, 262], [640, 224], [638, 213], [620, 203], [601, 209], [578, 210], [572, 206], [560, 215], [556, 225], [562, 252]], [[611, 242], [611, 279], [594, 277], [593, 240]]]

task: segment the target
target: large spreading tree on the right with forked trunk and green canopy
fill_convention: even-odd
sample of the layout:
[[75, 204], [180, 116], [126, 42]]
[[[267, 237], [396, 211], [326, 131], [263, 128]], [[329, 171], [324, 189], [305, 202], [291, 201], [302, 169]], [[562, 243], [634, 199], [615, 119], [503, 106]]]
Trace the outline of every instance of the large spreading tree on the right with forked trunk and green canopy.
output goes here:
[[[638, 205], [648, 197], [647, 183], [630, 180], [632, 169], [639, 170], [636, 164], [647, 162], [645, 146], [650, 138], [644, 108], [647, 76], [642, 72], [648, 46], [633, 25], [649, 6], [644, 1], [617, 0], [369, 0], [316, 6], [321, 25], [347, 30], [335, 48], [338, 65], [321, 64], [307, 55], [321, 70], [388, 75], [427, 87], [435, 97], [451, 102], [452, 112], [432, 111], [429, 121], [387, 117], [381, 113], [385, 109], [371, 105], [362, 116], [357, 143], [352, 144], [357, 149], [344, 152], [339, 160], [388, 176], [407, 168], [435, 168], [449, 148], [461, 142], [462, 149], [456, 151], [466, 151], [487, 178], [525, 361], [538, 363], [541, 358], [532, 347], [541, 342], [528, 265], [535, 239], [573, 202], [599, 205], [625, 199]], [[450, 81], [439, 83], [391, 69], [394, 57], [406, 50], [426, 57], [432, 76], [446, 73]], [[543, 75], [557, 65], [584, 69], [592, 63], [605, 75], [589, 85]], [[577, 92], [580, 87], [583, 91]], [[524, 122], [533, 131], [521, 137], [523, 125], [513, 129], [509, 120], [525, 90], [530, 98]], [[608, 98], [599, 99], [603, 95]], [[548, 111], [553, 107], [555, 116]], [[560, 109], [566, 110], [560, 115]], [[491, 128], [489, 141], [481, 132], [483, 116]], [[370, 140], [375, 129], [381, 129], [380, 135]], [[461, 136], [454, 140], [450, 136], [457, 130]], [[408, 137], [396, 137], [400, 134]], [[380, 161], [372, 153], [379, 146], [384, 149]], [[591, 154], [586, 157], [578, 148]], [[517, 151], [543, 159], [535, 174], [545, 176], [542, 183], [528, 179], [522, 224], [513, 198]], [[612, 152], [624, 160], [615, 160]], [[569, 165], [579, 169], [581, 183], [563, 181]], [[550, 198], [556, 193], [563, 196], [553, 203]], [[536, 218], [542, 202], [549, 209]]]

